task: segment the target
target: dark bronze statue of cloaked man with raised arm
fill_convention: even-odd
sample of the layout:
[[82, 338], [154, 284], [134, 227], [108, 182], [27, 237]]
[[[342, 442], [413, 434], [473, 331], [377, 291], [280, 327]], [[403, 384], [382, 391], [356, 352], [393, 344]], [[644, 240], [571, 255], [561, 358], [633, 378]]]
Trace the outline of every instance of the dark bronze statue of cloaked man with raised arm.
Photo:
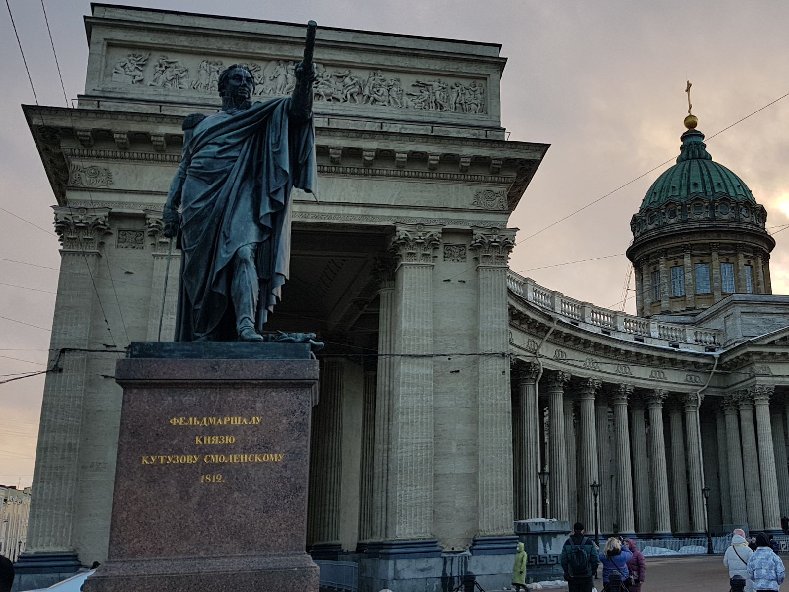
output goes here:
[[182, 250], [176, 341], [263, 340], [288, 279], [291, 189], [316, 189], [311, 54], [293, 96], [251, 103], [252, 73], [230, 66], [222, 111], [185, 118], [164, 208], [164, 234]]

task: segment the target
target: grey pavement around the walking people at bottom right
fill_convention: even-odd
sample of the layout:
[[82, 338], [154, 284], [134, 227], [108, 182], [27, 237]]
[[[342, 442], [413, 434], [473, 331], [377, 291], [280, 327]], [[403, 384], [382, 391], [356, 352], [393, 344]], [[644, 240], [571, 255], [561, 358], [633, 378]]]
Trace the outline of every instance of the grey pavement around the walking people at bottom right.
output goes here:
[[[781, 556], [781, 559], [789, 571], [789, 556]], [[600, 579], [595, 580], [595, 586], [598, 586], [598, 590], [602, 588]], [[567, 590], [567, 588], [556, 590]], [[647, 557], [646, 582], [641, 590], [643, 592], [684, 590], [728, 592], [729, 575], [727, 568], [724, 568], [724, 556]], [[488, 592], [501, 591], [488, 590]]]

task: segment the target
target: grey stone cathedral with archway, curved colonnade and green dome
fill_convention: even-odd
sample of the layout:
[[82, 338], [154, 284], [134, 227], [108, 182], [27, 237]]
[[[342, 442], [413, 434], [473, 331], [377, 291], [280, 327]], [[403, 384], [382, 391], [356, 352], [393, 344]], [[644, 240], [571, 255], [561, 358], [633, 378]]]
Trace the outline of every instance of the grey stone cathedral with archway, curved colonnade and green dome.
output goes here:
[[[79, 108], [24, 107], [62, 242], [19, 564], [50, 578], [106, 558], [114, 364], [173, 337], [162, 212], [183, 119], [217, 111], [234, 63], [256, 98], [289, 95], [303, 47], [303, 27], [270, 21], [95, 4], [85, 22]], [[319, 32], [318, 200], [294, 193], [267, 328], [326, 343], [305, 545], [356, 561], [362, 590], [427, 589], [458, 554], [508, 584], [513, 521], [591, 530], [592, 485], [605, 534], [780, 530], [789, 514], [789, 297], [771, 294], [765, 208], [694, 125], [631, 223], [637, 316], [515, 274], [508, 219], [548, 145], [504, 140], [499, 50]]]

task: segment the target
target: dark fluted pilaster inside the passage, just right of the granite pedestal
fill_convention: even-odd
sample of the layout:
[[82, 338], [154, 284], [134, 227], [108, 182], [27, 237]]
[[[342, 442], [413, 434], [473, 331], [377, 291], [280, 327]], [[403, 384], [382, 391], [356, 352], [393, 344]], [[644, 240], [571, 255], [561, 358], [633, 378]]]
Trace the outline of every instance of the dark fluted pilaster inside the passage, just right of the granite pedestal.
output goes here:
[[307, 541], [315, 559], [337, 559], [342, 479], [342, 387], [346, 360], [320, 369], [320, 401], [312, 410]]

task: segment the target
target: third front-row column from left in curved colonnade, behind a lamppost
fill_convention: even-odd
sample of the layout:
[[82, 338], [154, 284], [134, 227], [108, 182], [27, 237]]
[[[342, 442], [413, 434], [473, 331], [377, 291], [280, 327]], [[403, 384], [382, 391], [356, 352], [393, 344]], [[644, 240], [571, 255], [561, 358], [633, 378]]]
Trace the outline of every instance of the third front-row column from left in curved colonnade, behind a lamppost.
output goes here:
[[[578, 459], [581, 463], [578, 471], [578, 506], [579, 519], [592, 532], [594, 523], [594, 498], [592, 484], [600, 483], [597, 467], [597, 430], [594, 418], [594, 396], [600, 390], [600, 380], [585, 378], [576, 385], [580, 407], [580, 438], [578, 442]], [[572, 525], [570, 525], [572, 526]]]

